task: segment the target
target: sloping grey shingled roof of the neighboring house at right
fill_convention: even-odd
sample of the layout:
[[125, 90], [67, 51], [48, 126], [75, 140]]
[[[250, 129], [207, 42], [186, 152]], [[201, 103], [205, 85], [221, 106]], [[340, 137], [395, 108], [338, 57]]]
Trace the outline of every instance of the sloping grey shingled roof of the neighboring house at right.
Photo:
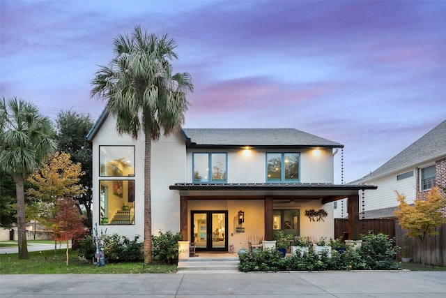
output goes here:
[[358, 184], [361, 181], [369, 181], [370, 179], [413, 167], [442, 156], [446, 156], [446, 120], [413, 142], [413, 144], [410, 144], [409, 147], [391, 158], [390, 161], [378, 167], [374, 172], [351, 183]]

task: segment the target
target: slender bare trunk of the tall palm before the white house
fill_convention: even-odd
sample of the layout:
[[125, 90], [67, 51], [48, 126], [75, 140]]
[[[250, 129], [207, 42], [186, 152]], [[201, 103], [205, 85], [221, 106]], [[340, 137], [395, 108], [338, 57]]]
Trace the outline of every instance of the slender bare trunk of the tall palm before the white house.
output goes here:
[[148, 118], [144, 121], [144, 263], [152, 262], [152, 199], [151, 151], [152, 131]]

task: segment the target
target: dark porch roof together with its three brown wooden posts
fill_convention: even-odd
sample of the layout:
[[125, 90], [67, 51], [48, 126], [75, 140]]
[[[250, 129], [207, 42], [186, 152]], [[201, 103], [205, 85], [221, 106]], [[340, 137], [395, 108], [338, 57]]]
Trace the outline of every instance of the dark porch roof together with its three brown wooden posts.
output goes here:
[[224, 183], [192, 184], [177, 183], [169, 186], [180, 195], [180, 232], [187, 240], [187, 201], [188, 200], [263, 200], [265, 204], [264, 239], [273, 239], [273, 205], [280, 200], [321, 200], [322, 204], [348, 198], [348, 237], [359, 237], [359, 191], [376, 189], [367, 184], [328, 184], [328, 183]]

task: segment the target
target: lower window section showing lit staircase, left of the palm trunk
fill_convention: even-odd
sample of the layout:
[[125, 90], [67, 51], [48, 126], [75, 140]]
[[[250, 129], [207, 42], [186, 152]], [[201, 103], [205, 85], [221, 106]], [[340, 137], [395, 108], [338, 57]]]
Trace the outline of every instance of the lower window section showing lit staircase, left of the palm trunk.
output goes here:
[[100, 223], [134, 225], [134, 180], [100, 180]]

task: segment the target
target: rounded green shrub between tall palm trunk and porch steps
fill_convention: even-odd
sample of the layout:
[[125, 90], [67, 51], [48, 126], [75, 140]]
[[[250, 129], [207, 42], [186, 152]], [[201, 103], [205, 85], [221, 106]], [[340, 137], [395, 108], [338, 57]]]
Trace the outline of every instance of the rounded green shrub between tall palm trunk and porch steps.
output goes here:
[[170, 264], [178, 259], [178, 241], [183, 239], [181, 234], [171, 231], [165, 233], [160, 230], [158, 235], [152, 234], [152, 256], [153, 260], [161, 260]]

